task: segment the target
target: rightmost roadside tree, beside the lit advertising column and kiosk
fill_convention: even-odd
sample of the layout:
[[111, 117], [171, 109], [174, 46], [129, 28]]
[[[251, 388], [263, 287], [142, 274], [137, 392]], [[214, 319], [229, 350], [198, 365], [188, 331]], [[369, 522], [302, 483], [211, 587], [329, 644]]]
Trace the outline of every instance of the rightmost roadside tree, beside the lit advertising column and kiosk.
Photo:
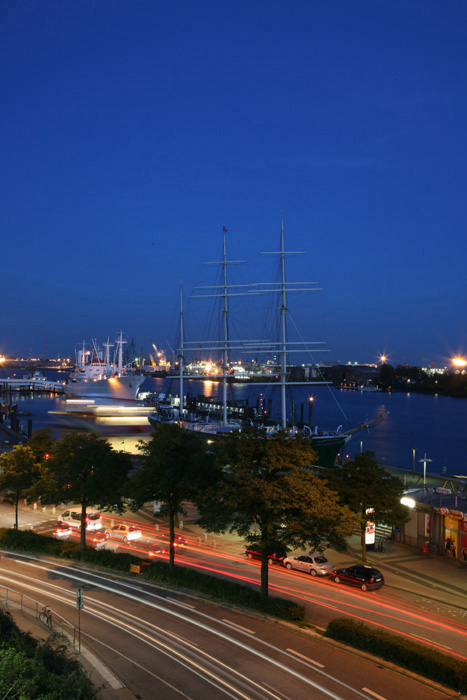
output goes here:
[[366, 561], [365, 530], [370, 509], [375, 522], [400, 526], [409, 520], [408, 509], [400, 502], [404, 484], [378, 464], [374, 452], [355, 455], [340, 469], [329, 470], [322, 476], [341, 501], [359, 516], [363, 561]]

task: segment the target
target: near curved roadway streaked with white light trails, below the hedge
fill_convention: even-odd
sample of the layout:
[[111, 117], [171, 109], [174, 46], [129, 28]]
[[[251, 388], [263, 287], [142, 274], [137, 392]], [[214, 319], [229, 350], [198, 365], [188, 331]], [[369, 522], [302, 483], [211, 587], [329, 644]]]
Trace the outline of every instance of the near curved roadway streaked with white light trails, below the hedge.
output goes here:
[[[83, 587], [81, 644], [136, 698], [435, 700], [444, 695], [306, 632], [141, 579], [3, 554], [0, 585], [47, 604], [59, 629], [60, 617], [78, 624], [76, 588]], [[9, 605], [15, 605], [11, 590]], [[114, 683], [112, 677], [109, 682]]]

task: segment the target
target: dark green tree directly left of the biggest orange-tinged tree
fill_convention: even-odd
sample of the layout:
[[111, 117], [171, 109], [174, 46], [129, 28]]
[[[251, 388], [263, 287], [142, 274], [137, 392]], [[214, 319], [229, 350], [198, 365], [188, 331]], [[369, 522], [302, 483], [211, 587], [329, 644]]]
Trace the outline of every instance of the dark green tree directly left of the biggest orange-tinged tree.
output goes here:
[[161, 424], [148, 442], [140, 442], [140, 467], [130, 480], [133, 509], [161, 501], [160, 514], [169, 519], [171, 570], [175, 560], [175, 518], [185, 515], [183, 502], [192, 500], [207, 483], [212, 456], [200, 433], [175, 424]]

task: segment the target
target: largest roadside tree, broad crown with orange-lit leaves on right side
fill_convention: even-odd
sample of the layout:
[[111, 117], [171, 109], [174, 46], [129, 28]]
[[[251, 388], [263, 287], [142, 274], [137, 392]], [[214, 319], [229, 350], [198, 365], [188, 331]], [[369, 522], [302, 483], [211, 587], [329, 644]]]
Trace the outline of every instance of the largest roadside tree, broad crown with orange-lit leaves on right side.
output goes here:
[[[268, 595], [268, 552], [311, 546], [345, 549], [355, 518], [310, 469], [311, 440], [244, 431], [216, 444], [217, 481], [200, 492], [198, 522], [237, 532], [260, 548], [261, 595]], [[258, 532], [252, 532], [256, 523]]]

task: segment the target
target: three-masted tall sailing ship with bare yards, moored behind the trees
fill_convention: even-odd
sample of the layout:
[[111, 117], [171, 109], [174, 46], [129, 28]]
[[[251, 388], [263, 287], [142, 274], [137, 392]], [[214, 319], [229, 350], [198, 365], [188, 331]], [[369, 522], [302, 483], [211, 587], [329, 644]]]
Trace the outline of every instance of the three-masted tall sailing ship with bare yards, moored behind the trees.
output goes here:
[[[213, 287], [204, 287], [203, 293], [192, 295], [192, 298], [218, 298], [221, 302], [221, 315], [223, 323], [223, 337], [220, 341], [214, 341], [209, 344], [199, 341], [184, 340], [184, 320], [183, 320], [183, 291], [180, 285], [180, 348], [179, 348], [179, 391], [180, 399], [178, 405], [163, 405], [156, 406], [156, 410], [148, 416], [150, 424], [157, 429], [162, 423], [177, 423], [185, 430], [193, 430], [205, 434], [207, 437], [226, 436], [233, 431], [241, 430], [242, 425], [253, 425], [259, 430], [265, 430], [268, 435], [273, 435], [279, 430], [289, 433], [291, 436], [302, 433], [311, 438], [312, 447], [317, 454], [315, 462], [316, 466], [330, 468], [335, 464], [337, 454], [341, 448], [348, 442], [355, 432], [367, 427], [370, 423], [380, 420], [380, 416], [373, 421], [367, 421], [353, 430], [344, 432], [342, 426], [335, 430], [322, 430], [317, 425], [313, 424], [312, 411], [309, 411], [308, 423], [303, 422], [303, 416], [300, 422], [296, 421], [294, 411], [290, 411], [290, 406], [287, 402], [287, 388], [292, 386], [311, 386], [316, 384], [326, 384], [325, 381], [292, 381], [288, 369], [288, 357], [291, 353], [310, 352], [313, 346], [313, 352], [320, 351], [318, 345], [322, 345], [320, 341], [293, 341], [290, 342], [287, 337], [287, 314], [288, 314], [288, 294], [290, 292], [314, 292], [318, 291], [318, 287], [314, 283], [308, 282], [293, 282], [289, 283], [286, 277], [286, 256], [291, 254], [285, 250], [284, 245], [284, 225], [281, 222], [280, 246], [275, 252], [265, 253], [266, 255], [279, 256], [280, 263], [280, 280], [273, 283], [259, 283], [248, 285], [235, 285], [232, 289], [228, 281], [228, 265], [232, 263], [244, 261], [229, 261], [226, 255], [226, 238], [225, 230], [223, 233], [223, 256], [218, 263], [222, 265], [222, 283]], [[297, 254], [294, 252], [294, 254]], [[257, 296], [257, 295], [273, 295], [279, 296], [279, 313], [280, 313], [280, 338], [277, 341], [232, 341], [229, 336], [229, 298], [231, 296]], [[211, 351], [218, 352], [221, 355], [219, 366], [221, 374], [216, 373], [212, 377], [203, 375], [204, 379], [222, 380], [222, 413], [217, 420], [213, 420], [209, 413], [202, 415], [199, 411], [191, 411], [187, 405], [184, 396], [184, 381], [192, 379], [192, 375], [187, 375], [184, 371], [184, 358], [186, 354], [192, 355], [195, 348], [201, 348], [203, 352]], [[262, 352], [263, 354], [275, 355], [280, 358], [280, 363], [277, 368], [277, 380], [275, 385], [280, 386], [280, 421], [273, 422], [264, 413], [249, 412], [246, 422], [238, 418], [232, 418], [229, 414], [229, 402], [227, 400], [227, 389], [231, 374], [229, 367], [231, 365], [230, 356], [235, 351]], [[255, 386], [264, 383], [271, 385], [271, 378], [266, 375], [256, 375]], [[263, 381], [264, 380], [264, 381]], [[302, 411], [303, 413], [303, 411]]]

